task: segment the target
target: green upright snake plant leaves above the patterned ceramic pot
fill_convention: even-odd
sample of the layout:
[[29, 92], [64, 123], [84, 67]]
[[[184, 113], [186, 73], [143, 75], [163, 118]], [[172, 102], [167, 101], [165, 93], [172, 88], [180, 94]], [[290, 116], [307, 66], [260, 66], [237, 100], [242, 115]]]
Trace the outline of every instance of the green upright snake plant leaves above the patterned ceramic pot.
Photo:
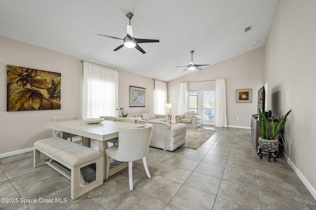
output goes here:
[[[288, 111], [285, 115], [281, 117], [280, 120], [276, 123], [272, 124], [272, 129], [269, 131], [269, 121], [267, 120], [266, 116], [261, 112], [259, 109], [259, 121], [260, 121], [260, 128], [261, 128], [261, 138], [263, 139], [275, 139], [276, 135], [281, 131], [284, 127], [286, 118], [290, 114], [292, 110]], [[271, 121], [273, 122], [273, 118], [271, 117]]]

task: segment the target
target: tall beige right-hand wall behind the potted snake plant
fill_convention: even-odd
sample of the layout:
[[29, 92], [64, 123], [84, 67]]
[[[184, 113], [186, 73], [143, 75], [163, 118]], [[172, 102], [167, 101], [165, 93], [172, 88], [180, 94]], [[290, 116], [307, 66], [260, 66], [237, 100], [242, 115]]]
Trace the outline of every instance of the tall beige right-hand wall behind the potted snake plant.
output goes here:
[[285, 124], [285, 153], [316, 197], [316, 1], [279, 0], [265, 46], [268, 106]]

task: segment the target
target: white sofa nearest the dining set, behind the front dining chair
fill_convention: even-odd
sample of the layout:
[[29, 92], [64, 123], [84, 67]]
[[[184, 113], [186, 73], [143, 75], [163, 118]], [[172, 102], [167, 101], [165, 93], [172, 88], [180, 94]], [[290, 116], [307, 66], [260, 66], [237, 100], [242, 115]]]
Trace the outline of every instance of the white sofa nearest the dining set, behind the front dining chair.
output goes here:
[[187, 126], [183, 123], [170, 125], [157, 120], [138, 120], [138, 123], [154, 125], [151, 147], [173, 151], [186, 142]]

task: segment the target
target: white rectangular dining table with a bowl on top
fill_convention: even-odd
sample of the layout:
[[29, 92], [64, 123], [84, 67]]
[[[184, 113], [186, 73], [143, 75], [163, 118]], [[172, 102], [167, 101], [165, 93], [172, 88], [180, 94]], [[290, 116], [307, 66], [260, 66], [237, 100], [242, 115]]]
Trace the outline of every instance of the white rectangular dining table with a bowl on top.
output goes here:
[[[44, 127], [61, 131], [61, 137], [67, 139], [67, 133], [76, 134], [82, 137], [83, 146], [90, 147], [90, 139], [99, 141], [99, 151], [103, 153], [103, 180], [105, 180], [105, 149], [108, 148], [108, 140], [118, 137], [118, 128], [138, 128], [144, 127], [144, 124], [104, 120], [97, 124], [88, 124], [83, 120], [66, 120], [45, 122]], [[124, 168], [128, 167], [127, 162], [116, 164], [111, 167], [109, 176], [112, 176]]]

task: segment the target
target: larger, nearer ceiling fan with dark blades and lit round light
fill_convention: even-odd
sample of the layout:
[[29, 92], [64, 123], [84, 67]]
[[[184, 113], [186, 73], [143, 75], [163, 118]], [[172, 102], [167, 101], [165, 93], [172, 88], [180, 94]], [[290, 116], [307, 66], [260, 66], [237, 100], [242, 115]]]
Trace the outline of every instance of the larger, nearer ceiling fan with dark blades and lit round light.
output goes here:
[[159, 42], [158, 39], [138, 39], [133, 37], [133, 31], [132, 31], [132, 26], [130, 25], [130, 20], [134, 17], [134, 14], [131, 12], [128, 12], [126, 14], [126, 17], [129, 19], [129, 25], [126, 25], [127, 27], [127, 35], [124, 38], [118, 38], [114, 36], [108, 36], [108, 35], [103, 35], [103, 34], [98, 34], [99, 36], [105, 36], [108, 38], [113, 38], [113, 39], [121, 39], [123, 40], [123, 44], [119, 45], [117, 48], [114, 49], [114, 51], [118, 51], [121, 49], [123, 46], [127, 48], [136, 48], [143, 54], [146, 52], [138, 45], [139, 43], [146, 43], [146, 42]]

